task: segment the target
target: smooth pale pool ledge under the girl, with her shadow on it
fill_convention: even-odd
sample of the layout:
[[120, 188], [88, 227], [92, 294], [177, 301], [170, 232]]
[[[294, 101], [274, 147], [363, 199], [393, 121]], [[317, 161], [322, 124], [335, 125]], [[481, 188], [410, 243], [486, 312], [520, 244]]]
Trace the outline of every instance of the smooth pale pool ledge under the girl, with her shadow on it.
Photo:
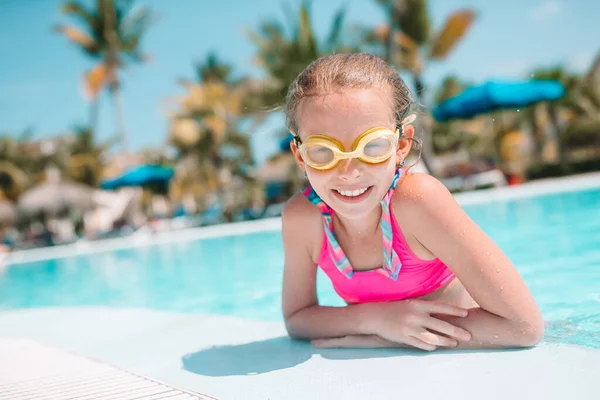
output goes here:
[[5, 311], [0, 337], [59, 347], [222, 400], [597, 400], [599, 393], [600, 350], [550, 343], [320, 350], [288, 339], [281, 323], [110, 308]]

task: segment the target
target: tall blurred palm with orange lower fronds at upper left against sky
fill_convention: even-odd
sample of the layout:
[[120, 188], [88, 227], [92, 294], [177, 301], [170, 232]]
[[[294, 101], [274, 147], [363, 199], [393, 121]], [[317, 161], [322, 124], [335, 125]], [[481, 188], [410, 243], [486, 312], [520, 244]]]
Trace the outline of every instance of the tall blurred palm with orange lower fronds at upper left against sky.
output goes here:
[[93, 9], [79, 1], [67, 1], [62, 11], [82, 28], [59, 25], [55, 29], [97, 61], [96, 66], [84, 75], [85, 90], [92, 101], [90, 127], [93, 131], [97, 129], [98, 95], [107, 88], [113, 100], [121, 150], [127, 151], [118, 71], [129, 62], [148, 60], [140, 46], [154, 14], [149, 7], [134, 8], [133, 0], [97, 0]]

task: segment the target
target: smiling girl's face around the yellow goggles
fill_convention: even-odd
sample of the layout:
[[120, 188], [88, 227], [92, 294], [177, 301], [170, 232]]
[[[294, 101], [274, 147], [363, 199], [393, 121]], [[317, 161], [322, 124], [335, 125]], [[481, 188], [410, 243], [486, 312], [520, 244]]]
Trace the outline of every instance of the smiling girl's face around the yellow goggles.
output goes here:
[[[355, 140], [374, 127], [396, 131], [392, 113], [392, 98], [383, 89], [354, 89], [307, 98], [298, 109], [301, 140], [310, 135], [325, 135], [337, 140], [345, 151], [352, 150]], [[405, 136], [412, 136], [412, 127], [404, 128]], [[392, 157], [379, 164], [368, 164], [359, 159], [341, 160], [330, 170], [317, 170], [304, 163], [295, 144], [292, 152], [296, 162], [306, 171], [311, 186], [339, 215], [354, 219], [364, 217], [380, 207], [387, 193], [396, 165], [408, 154], [409, 140], [400, 140]]]

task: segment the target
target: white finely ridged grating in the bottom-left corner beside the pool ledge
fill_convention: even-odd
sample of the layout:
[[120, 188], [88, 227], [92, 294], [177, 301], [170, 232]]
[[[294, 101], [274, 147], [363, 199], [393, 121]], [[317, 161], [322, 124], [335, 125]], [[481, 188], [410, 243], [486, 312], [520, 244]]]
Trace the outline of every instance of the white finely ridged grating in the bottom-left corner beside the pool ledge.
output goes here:
[[215, 400], [27, 339], [0, 337], [0, 399]]

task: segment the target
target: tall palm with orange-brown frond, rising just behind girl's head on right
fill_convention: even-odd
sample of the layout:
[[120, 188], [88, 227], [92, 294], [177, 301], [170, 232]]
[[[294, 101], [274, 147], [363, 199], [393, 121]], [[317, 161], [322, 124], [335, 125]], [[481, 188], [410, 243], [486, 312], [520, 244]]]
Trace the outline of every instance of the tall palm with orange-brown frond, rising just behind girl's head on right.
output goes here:
[[[431, 17], [426, 0], [376, 0], [386, 13], [385, 24], [367, 28], [363, 34], [365, 48], [378, 53], [413, 79], [416, 96], [425, 103], [423, 73], [430, 62], [448, 57], [475, 19], [475, 12], [461, 9], [453, 12], [443, 27], [431, 34]], [[423, 120], [423, 161], [430, 167], [433, 157], [431, 118]], [[429, 168], [431, 170], [431, 168]]]

